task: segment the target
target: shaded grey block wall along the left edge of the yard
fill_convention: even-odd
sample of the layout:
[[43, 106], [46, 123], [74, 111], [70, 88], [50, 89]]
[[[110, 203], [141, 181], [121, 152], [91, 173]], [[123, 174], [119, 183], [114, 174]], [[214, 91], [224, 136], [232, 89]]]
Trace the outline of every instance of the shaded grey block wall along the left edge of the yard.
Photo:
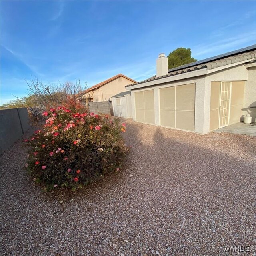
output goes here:
[[26, 108], [10, 108], [0, 110], [1, 114], [1, 153], [16, 142], [30, 125]]

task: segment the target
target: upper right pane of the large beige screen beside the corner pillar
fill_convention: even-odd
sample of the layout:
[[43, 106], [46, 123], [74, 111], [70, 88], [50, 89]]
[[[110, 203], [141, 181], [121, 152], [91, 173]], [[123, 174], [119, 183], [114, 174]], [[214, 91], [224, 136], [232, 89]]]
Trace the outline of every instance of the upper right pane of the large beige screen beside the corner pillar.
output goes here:
[[195, 110], [195, 84], [176, 86], [176, 110]]

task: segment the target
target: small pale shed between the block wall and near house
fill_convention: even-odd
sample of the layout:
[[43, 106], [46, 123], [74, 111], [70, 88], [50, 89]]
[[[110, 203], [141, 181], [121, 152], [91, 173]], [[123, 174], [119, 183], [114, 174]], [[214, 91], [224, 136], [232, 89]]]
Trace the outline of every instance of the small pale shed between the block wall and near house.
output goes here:
[[111, 97], [114, 116], [130, 118], [132, 117], [131, 92], [120, 92]]

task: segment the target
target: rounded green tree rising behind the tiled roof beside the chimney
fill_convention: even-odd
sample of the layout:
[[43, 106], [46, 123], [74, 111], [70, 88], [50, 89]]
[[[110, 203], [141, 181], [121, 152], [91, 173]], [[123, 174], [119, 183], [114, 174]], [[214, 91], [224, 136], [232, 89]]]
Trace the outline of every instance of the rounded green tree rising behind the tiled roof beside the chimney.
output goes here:
[[168, 55], [168, 69], [197, 61], [191, 57], [190, 48], [177, 48]]

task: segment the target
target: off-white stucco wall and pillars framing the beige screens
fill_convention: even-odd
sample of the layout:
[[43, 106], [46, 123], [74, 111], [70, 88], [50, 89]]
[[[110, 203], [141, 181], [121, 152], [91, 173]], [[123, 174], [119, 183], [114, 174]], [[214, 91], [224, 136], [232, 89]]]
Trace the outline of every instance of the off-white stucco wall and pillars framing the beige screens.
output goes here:
[[[211, 82], [212, 81], [246, 81], [244, 89], [244, 107], [256, 106], [256, 68], [246, 68], [245, 64], [232, 66], [230, 68], [214, 71], [209, 70], [210, 74], [200, 75], [192, 78], [186, 78], [178, 81], [165, 82], [163, 84], [152, 85], [159, 80], [150, 81], [148, 87], [133, 89], [131, 94], [132, 117], [136, 121], [134, 92], [154, 89], [155, 103], [155, 124], [160, 125], [160, 107], [159, 107], [159, 89], [171, 86], [180, 86], [184, 84], [195, 83], [195, 128], [194, 131], [199, 134], [207, 134], [210, 132], [210, 99], [211, 99]], [[198, 71], [198, 74], [199, 71]], [[168, 79], [168, 78], [164, 78]], [[147, 83], [142, 84], [146, 86]], [[255, 122], [256, 109], [250, 109]], [[247, 113], [246, 111], [244, 112]]]

